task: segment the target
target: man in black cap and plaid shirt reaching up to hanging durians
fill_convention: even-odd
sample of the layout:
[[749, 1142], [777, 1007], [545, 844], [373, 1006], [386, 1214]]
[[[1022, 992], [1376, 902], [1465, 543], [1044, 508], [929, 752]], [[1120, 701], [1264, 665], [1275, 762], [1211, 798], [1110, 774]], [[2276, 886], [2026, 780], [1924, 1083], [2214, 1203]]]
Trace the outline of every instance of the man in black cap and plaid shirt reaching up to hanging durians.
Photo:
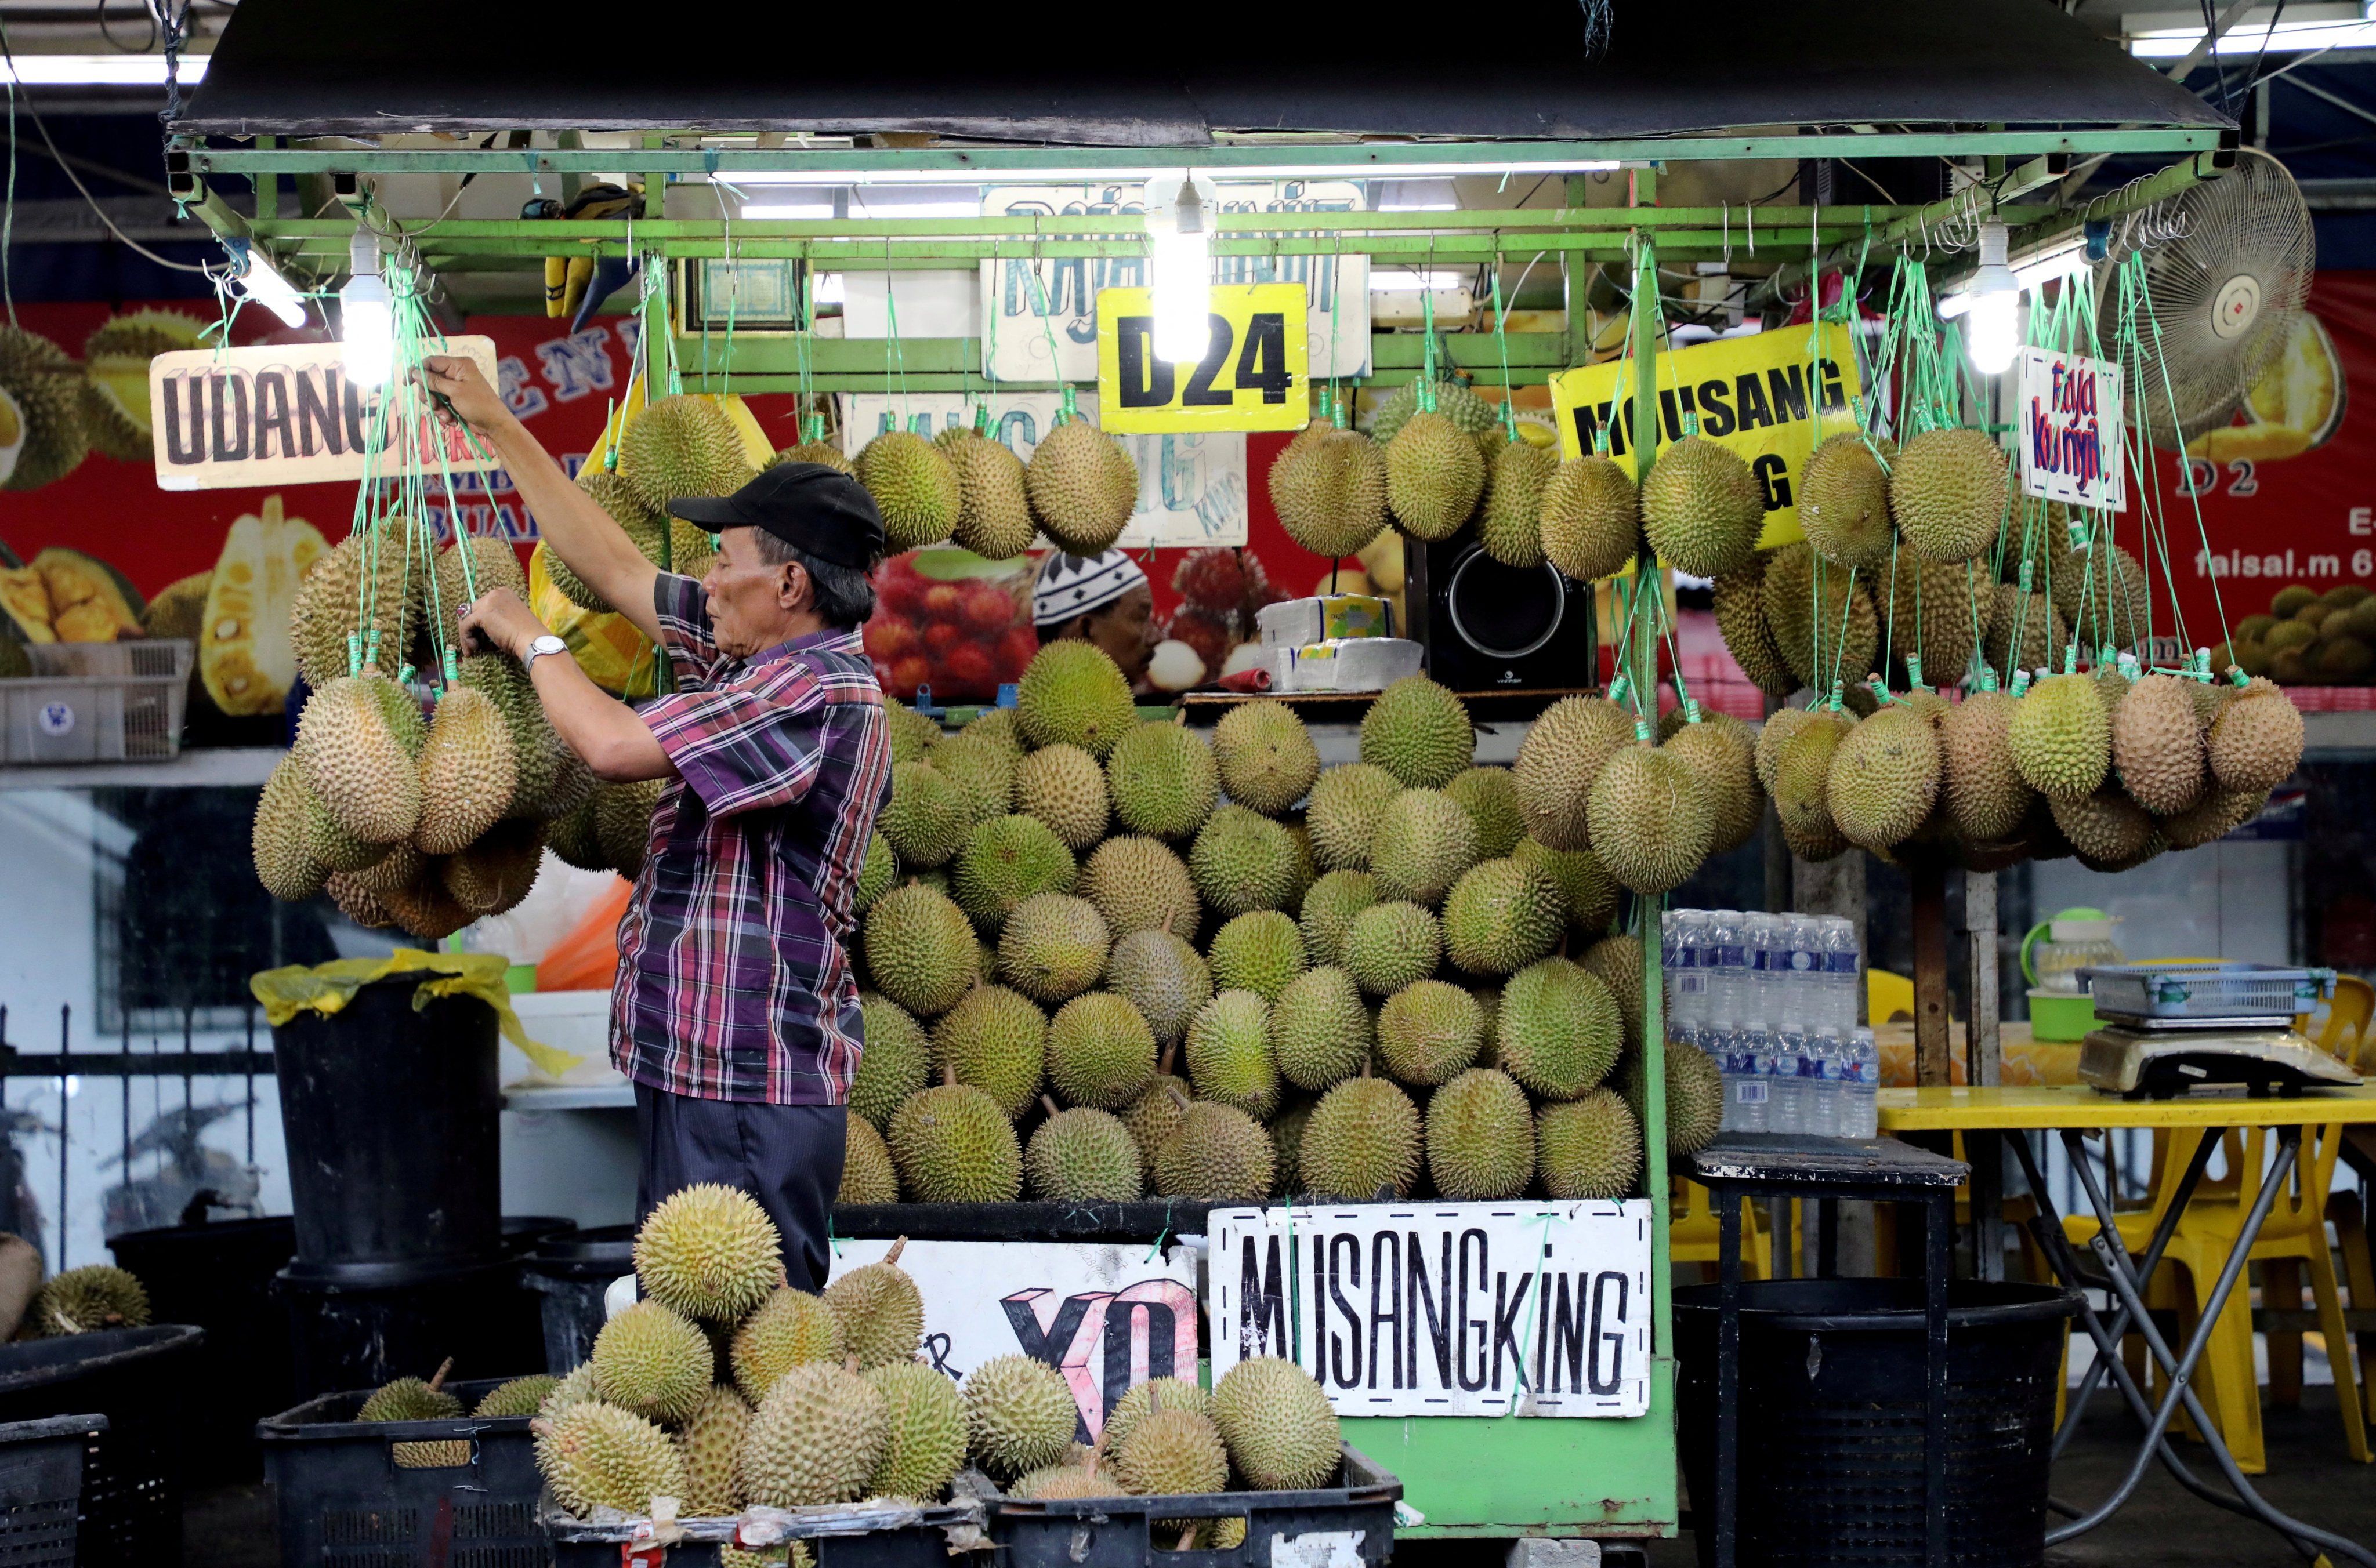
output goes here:
[[891, 736], [858, 627], [881, 558], [874, 499], [836, 468], [779, 463], [670, 513], [718, 532], [708, 577], [661, 573], [504, 409], [468, 359], [430, 359], [511, 473], [544, 542], [668, 651], [642, 710], [596, 687], [520, 599], [463, 611], [468, 639], [527, 665], [554, 729], [604, 779], [668, 779], [618, 924], [611, 1057], [634, 1081], [637, 1216], [677, 1188], [751, 1193], [794, 1288], [827, 1271], [843, 1105], [865, 1017], [851, 900]]

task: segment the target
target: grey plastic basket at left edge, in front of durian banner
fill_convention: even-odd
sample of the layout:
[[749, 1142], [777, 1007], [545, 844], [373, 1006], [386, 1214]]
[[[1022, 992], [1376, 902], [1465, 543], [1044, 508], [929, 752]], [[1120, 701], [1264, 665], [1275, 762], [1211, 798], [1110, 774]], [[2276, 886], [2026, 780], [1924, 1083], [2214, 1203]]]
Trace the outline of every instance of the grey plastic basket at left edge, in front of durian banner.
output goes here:
[[164, 763], [181, 753], [192, 644], [31, 644], [0, 679], [0, 763]]

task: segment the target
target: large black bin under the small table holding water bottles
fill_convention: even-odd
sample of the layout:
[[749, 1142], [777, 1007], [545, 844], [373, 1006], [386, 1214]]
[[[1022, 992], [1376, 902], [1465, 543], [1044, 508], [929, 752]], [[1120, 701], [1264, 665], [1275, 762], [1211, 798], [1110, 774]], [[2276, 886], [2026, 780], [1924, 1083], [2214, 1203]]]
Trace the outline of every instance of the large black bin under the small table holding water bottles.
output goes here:
[[[2039, 1568], [2062, 1328], [2053, 1285], [1948, 1285], [1948, 1561]], [[1675, 1292], [1682, 1473], [1715, 1561], [1718, 1285]], [[1742, 1285], [1739, 1568], [1925, 1561], [1922, 1281]]]

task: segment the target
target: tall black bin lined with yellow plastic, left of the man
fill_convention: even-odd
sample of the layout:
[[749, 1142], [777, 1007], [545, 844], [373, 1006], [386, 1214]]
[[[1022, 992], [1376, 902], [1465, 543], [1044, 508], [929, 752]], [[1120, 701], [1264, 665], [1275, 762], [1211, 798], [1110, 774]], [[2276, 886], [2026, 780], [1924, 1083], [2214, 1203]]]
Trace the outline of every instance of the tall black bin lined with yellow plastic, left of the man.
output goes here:
[[504, 1257], [494, 1007], [421, 974], [273, 1029], [292, 1281], [394, 1285]]

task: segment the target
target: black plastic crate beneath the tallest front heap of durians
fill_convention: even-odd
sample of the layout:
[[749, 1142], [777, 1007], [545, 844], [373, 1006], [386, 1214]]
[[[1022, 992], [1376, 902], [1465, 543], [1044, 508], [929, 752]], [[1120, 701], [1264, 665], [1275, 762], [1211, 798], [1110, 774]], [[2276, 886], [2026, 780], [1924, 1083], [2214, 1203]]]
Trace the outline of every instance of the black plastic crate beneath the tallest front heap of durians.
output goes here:
[[[539, 1523], [554, 1542], [554, 1568], [620, 1568], [620, 1547], [637, 1539], [637, 1525], [573, 1518], [549, 1492], [537, 1506]], [[682, 1520], [684, 1535], [668, 1547], [668, 1568], [718, 1568], [718, 1549], [734, 1544], [737, 1528], [753, 1516], [782, 1525], [779, 1539], [808, 1542], [817, 1568], [950, 1568], [950, 1558], [960, 1551], [988, 1547], [981, 1532], [984, 1509], [972, 1497], [924, 1509], [886, 1501], [753, 1509], [741, 1520]]]

